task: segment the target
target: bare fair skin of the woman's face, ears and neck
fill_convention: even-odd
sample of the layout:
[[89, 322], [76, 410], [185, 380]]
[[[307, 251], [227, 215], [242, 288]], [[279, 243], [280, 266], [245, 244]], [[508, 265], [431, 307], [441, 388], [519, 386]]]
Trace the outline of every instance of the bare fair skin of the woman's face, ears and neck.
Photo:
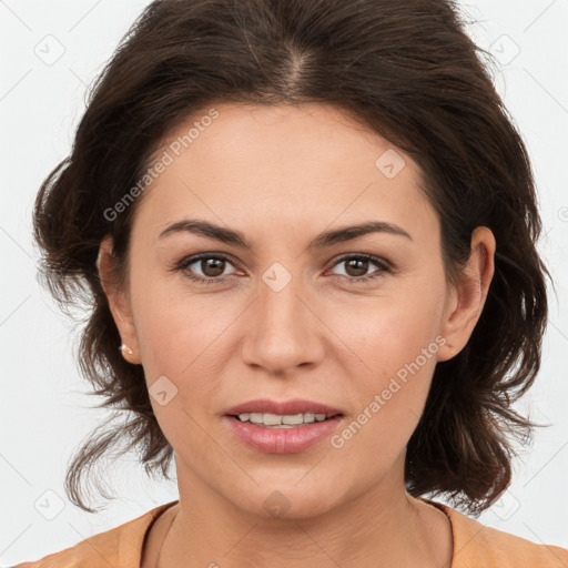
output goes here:
[[[143, 365], [149, 388], [164, 375], [178, 388], [164, 406], [151, 400], [175, 453], [180, 503], [152, 526], [142, 566], [155, 566], [162, 545], [161, 566], [449, 566], [452, 527], [405, 491], [405, 449], [436, 363], [466, 345], [481, 313], [491, 232], [473, 233], [469, 263], [450, 287], [439, 220], [402, 150], [328, 105], [215, 108], [220, 116], [138, 204], [128, 288], [111, 278], [112, 240], [101, 243], [101, 280], [128, 359]], [[375, 165], [389, 148], [406, 163], [393, 179]], [[159, 237], [185, 217], [240, 231], [252, 250], [191, 233]], [[323, 231], [377, 220], [412, 239], [371, 233], [307, 247]], [[219, 282], [172, 270], [203, 252], [227, 262], [216, 273], [196, 262], [185, 274]], [[356, 272], [343, 258], [365, 253], [394, 271], [371, 261]], [[277, 293], [262, 280], [274, 262], [292, 276]], [[373, 273], [366, 284], [347, 280]], [[302, 453], [262, 453], [222, 420], [253, 398], [298, 397], [352, 423], [433, 344], [437, 353], [341, 448], [326, 438]], [[288, 506], [278, 518], [263, 506], [276, 490]]]

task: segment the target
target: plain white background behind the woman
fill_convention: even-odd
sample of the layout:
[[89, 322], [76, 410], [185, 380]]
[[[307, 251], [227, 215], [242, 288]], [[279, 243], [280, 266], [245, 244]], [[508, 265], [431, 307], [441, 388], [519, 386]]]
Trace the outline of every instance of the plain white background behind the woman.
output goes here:
[[[34, 195], [70, 151], [87, 85], [144, 0], [0, 0], [0, 345], [2, 364], [0, 562], [9, 566], [61, 550], [178, 498], [175, 483], [155, 483], [133, 457], [109, 465], [120, 499], [89, 515], [63, 493], [68, 459], [108, 418], [75, 364], [79, 327], [59, 313], [36, 280]], [[506, 496], [479, 520], [535, 542], [568, 546], [568, 1], [460, 2], [478, 22], [475, 41], [496, 57], [495, 81], [535, 168], [544, 237], [539, 244], [557, 283], [537, 382], [518, 408], [538, 428], [521, 448]], [[62, 45], [58, 48], [53, 39]], [[53, 64], [34, 52], [64, 49]], [[38, 47], [39, 45], [39, 47]], [[45, 49], [45, 48], [43, 48]], [[50, 491], [44, 495], [45, 491]], [[38, 499], [63, 501], [53, 519]], [[50, 505], [51, 506], [51, 505]], [[57, 506], [57, 505], [54, 505]]]

